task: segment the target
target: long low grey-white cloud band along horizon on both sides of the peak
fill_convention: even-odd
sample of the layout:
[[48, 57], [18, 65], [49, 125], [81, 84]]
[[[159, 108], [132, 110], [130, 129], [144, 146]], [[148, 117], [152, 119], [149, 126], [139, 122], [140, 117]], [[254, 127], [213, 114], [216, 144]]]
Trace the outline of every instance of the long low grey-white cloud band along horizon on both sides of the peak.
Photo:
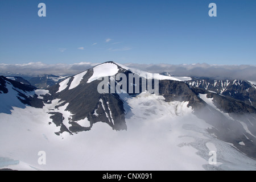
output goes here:
[[[108, 49], [109, 51], [125, 51], [129, 48]], [[116, 61], [118, 63], [118, 61]], [[44, 74], [76, 75], [100, 63], [75, 64], [3, 64], [0, 63], [0, 75], [10, 73], [37, 76]], [[212, 77], [216, 79], [240, 79], [256, 81], [256, 65], [209, 65], [209, 64], [123, 64], [130, 68], [137, 68], [151, 73], [169, 72], [175, 76]]]

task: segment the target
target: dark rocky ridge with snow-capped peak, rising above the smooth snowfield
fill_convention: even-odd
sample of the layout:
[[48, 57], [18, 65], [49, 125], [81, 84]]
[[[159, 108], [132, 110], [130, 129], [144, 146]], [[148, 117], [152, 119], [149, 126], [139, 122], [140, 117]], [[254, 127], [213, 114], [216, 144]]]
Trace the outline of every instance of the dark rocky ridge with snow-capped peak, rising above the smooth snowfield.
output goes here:
[[[15, 98], [15, 103], [22, 102], [22, 105], [11, 105], [6, 100], [5, 105], [9, 111], [5, 113], [9, 115], [17, 106], [24, 111], [35, 107], [35, 112], [37, 112], [38, 108], [38, 111], [43, 112], [44, 117], [47, 118], [46, 127], [54, 128], [55, 135], [62, 139], [67, 138], [68, 135], [75, 137], [80, 133], [90, 133], [94, 130], [94, 126], [98, 126], [98, 123], [105, 123], [115, 131], [129, 133], [131, 130], [129, 122], [145, 122], [148, 117], [158, 116], [155, 118], [157, 123], [158, 118], [172, 120], [188, 113], [192, 118], [201, 119], [200, 121], [204, 121], [209, 126], [201, 130], [195, 126], [192, 127], [193, 123], [185, 124], [184, 131], [193, 130], [196, 133], [209, 135], [211, 140], [229, 143], [237, 151], [256, 159], [256, 145], [254, 144], [256, 143], [256, 109], [253, 104], [243, 100], [254, 93], [255, 88], [249, 82], [239, 81], [240, 85], [243, 84], [240, 86], [238, 81], [234, 81], [234, 86], [232, 86], [230, 81], [228, 81], [229, 84], [219, 81], [217, 85], [216, 81], [206, 82], [205, 78], [199, 80], [199, 78], [192, 77], [191, 79], [185, 78], [183, 81], [174, 76], [162, 77], [156, 74], [155, 78], [159, 79], [159, 94], [150, 93], [147, 89], [143, 90], [143, 79], [139, 80], [138, 93], [98, 92], [102, 77], [108, 79], [108, 89], [111, 90], [119, 84], [117, 80], [111, 84], [113, 81], [111, 79], [118, 74], [129, 78], [129, 74], [137, 77], [141, 73], [146, 72], [122, 67], [121, 64], [110, 61], [65, 78], [46, 90], [38, 90], [34, 86], [1, 76], [0, 98], [5, 98], [5, 94], [11, 92], [15, 93], [11, 95]], [[148, 74], [149, 77], [145, 78], [147, 83], [155, 82], [152, 80], [154, 75]], [[200, 81], [201, 84], [199, 84]], [[131, 83], [127, 81], [126, 84], [128, 88]], [[135, 82], [133, 85], [135, 86]], [[205, 88], [205, 85], [208, 87]], [[219, 93], [214, 92], [212, 88]], [[243, 97], [237, 97], [238, 93], [234, 97], [230, 96], [229, 92], [237, 88], [241, 89]], [[251, 94], [246, 95], [246, 93]], [[20, 97], [25, 98], [26, 102]], [[251, 101], [254, 103], [253, 97]], [[196, 148], [194, 144], [191, 145]]]

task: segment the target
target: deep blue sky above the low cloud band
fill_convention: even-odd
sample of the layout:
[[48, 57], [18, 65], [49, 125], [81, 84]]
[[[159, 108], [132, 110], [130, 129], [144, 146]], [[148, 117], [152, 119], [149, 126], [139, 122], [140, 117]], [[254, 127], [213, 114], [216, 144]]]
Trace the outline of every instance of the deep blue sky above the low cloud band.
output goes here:
[[255, 22], [255, 0], [1, 0], [0, 63], [255, 65]]

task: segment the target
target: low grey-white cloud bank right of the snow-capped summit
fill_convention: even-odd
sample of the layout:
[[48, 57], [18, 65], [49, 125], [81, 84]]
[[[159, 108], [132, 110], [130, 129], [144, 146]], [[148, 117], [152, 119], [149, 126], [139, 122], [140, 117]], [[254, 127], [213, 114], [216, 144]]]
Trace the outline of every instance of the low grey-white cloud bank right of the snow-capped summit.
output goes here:
[[[124, 64], [151, 73], [168, 72], [175, 76], [212, 77], [216, 79], [256, 80], [256, 65], [209, 64]], [[253, 80], [252, 80], [253, 79]]]

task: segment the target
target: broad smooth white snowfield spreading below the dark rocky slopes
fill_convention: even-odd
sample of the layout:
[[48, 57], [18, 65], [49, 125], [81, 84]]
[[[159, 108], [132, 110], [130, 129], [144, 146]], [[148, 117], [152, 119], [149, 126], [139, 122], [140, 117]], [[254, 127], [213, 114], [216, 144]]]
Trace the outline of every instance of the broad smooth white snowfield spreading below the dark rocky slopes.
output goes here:
[[[79, 80], [79, 79], [77, 79]], [[65, 83], [63, 84], [65, 85]], [[0, 95], [1, 96], [1, 95]], [[148, 99], [150, 98], [150, 99]], [[49, 118], [49, 111], [63, 113], [59, 100], [43, 109], [14, 107], [0, 113], [0, 168], [19, 170], [255, 170], [256, 161], [230, 144], [216, 139], [209, 124], [193, 115], [188, 102], [165, 102], [163, 97], [141, 93], [127, 97], [127, 131], [115, 131], [97, 122], [92, 130], [70, 135]], [[109, 118], [110, 119], [110, 118]], [[49, 122], [52, 124], [49, 125]], [[77, 123], [88, 126], [85, 118]], [[243, 143], [240, 143], [243, 144]], [[216, 151], [217, 164], [209, 165], [209, 151]], [[39, 151], [46, 152], [46, 165], [39, 165]], [[2, 159], [2, 160], [1, 160]], [[4, 160], [5, 159], [5, 160]], [[7, 160], [8, 159], [8, 160]], [[7, 161], [7, 162], [6, 162]], [[13, 162], [15, 161], [15, 162]]]

